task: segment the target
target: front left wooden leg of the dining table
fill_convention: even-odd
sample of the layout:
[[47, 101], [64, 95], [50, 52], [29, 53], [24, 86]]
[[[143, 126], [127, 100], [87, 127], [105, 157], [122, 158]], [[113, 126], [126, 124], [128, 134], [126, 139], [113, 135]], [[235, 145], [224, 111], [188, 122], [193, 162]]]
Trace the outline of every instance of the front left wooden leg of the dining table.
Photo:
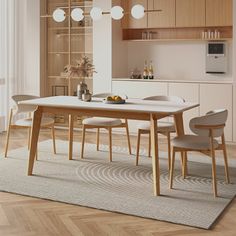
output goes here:
[[42, 119], [42, 109], [38, 107], [37, 110], [34, 112], [33, 125], [31, 129], [28, 175], [33, 174], [34, 160], [35, 160], [35, 155], [37, 152], [37, 144], [38, 144], [38, 138], [39, 138], [41, 119]]

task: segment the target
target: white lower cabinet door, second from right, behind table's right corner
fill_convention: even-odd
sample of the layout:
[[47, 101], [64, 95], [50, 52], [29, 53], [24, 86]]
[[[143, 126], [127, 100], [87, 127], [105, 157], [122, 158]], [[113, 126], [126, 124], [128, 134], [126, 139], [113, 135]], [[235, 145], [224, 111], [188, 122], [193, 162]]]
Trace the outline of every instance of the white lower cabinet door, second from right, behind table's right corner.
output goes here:
[[[195, 83], [169, 83], [169, 96], [182, 97], [185, 101], [199, 103], [199, 84]], [[184, 130], [192, 134], [189, 121], [199, 116], [199, 107], [186, 111], [184, 114]]]

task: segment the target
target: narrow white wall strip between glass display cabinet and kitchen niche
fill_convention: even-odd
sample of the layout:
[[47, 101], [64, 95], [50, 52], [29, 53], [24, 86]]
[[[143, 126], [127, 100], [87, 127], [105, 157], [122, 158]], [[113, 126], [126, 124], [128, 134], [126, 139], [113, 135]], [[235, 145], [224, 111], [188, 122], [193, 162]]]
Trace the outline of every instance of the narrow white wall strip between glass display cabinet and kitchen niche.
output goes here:
[[[111, 0], [94, 0], [93, 5], [110, 11]], [[111, 92], [112, 26], [110, 15], [93, 22], [93, 63], [97, 73], [93, 77], [93, 93]]]

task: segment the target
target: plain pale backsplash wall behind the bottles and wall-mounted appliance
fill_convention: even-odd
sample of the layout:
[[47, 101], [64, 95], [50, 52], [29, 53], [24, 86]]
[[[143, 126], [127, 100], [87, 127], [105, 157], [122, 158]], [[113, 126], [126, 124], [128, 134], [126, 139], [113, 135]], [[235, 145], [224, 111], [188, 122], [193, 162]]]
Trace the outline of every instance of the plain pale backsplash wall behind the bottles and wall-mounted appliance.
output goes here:
[[227, 75], [205, 73], [206, 42], [129, 42], [128, 71], [143, 70], [144, 60], [152, 60], [154, 73], [161, 79], [232, 80], [232, 43], [228, 42]]

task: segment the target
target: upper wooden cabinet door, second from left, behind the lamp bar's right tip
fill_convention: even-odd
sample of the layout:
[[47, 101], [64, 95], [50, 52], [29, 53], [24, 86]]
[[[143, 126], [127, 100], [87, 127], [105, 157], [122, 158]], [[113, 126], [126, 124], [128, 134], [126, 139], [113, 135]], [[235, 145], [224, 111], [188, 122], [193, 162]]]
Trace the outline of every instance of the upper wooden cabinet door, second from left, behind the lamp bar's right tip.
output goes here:
[[148, 28], [175, 27], [175, 0], [148, 0]]

